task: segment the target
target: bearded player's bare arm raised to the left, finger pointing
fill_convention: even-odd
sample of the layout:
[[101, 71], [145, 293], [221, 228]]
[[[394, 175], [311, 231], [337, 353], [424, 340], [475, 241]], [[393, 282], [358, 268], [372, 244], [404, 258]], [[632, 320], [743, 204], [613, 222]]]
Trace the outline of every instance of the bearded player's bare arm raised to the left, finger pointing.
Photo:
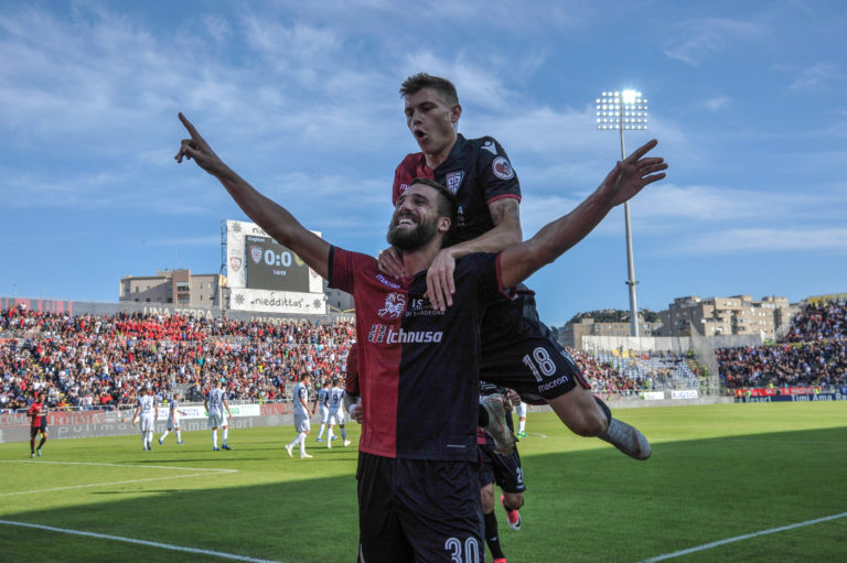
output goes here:
[[215, 176], [233, 196], [235, 203], [274, 237], [280, 245], [293, 250], [322, 278], [329, 273], [330, 243], [305, 229], [288, 209], [261, 195], [247, 181], [227, 166], [208, 143], [201, 137], [185, 116], [180, 121], [187, 129], [191, 139], [183, 139], [174, 159], [194, 159], [197, 165]]

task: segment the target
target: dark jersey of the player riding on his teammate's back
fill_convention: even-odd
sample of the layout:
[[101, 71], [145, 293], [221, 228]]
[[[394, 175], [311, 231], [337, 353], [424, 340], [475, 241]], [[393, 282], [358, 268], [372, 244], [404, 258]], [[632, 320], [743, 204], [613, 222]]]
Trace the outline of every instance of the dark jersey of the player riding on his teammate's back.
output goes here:
[[492, 137], [465, 139], [461, 134], [444, 162], [431, 170], [422, 152], [407, 155], [394, 172], [392, 202], [416, 177], [444, 185], [459, 201], [458, 224], [448, 245], [474, 239], [494, 228], [489, 205], [503, 197], [521, 201], [521, 185], [506, 151]]

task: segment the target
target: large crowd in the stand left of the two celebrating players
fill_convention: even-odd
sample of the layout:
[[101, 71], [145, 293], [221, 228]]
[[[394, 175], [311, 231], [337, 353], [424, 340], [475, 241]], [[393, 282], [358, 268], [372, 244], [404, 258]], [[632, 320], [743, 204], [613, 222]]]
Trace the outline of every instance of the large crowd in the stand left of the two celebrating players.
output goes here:
[[229, 400], [274, 401], [304, 371], [343, 378], [350, 321], [274, 323], [141, 313], [69, 315], [0, 311], [0, 410], [26, 408], [40, 390], [51, 408], [132, 405], [151, 385], [202, 397], [217, 379]]

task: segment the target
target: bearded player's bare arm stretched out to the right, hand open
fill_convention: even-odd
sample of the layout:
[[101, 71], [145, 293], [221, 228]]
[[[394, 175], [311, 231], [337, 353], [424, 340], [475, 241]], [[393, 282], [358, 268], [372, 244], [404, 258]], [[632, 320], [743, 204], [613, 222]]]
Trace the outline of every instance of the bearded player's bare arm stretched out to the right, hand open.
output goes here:
[[661, 172], [667, 169], [664, 159], [644, 156], [656, 144], [654, 139], [641, 145], [625, 160], [618, 162], [600, 187], [576, 209], [543, 227], [529, 240], [504, 250], [500, 262], [503, 286], [512, 288], [556, 260], [591, 232], [612, 207], [634, 197], [647, 184], [665, 177], [665, 173]]

